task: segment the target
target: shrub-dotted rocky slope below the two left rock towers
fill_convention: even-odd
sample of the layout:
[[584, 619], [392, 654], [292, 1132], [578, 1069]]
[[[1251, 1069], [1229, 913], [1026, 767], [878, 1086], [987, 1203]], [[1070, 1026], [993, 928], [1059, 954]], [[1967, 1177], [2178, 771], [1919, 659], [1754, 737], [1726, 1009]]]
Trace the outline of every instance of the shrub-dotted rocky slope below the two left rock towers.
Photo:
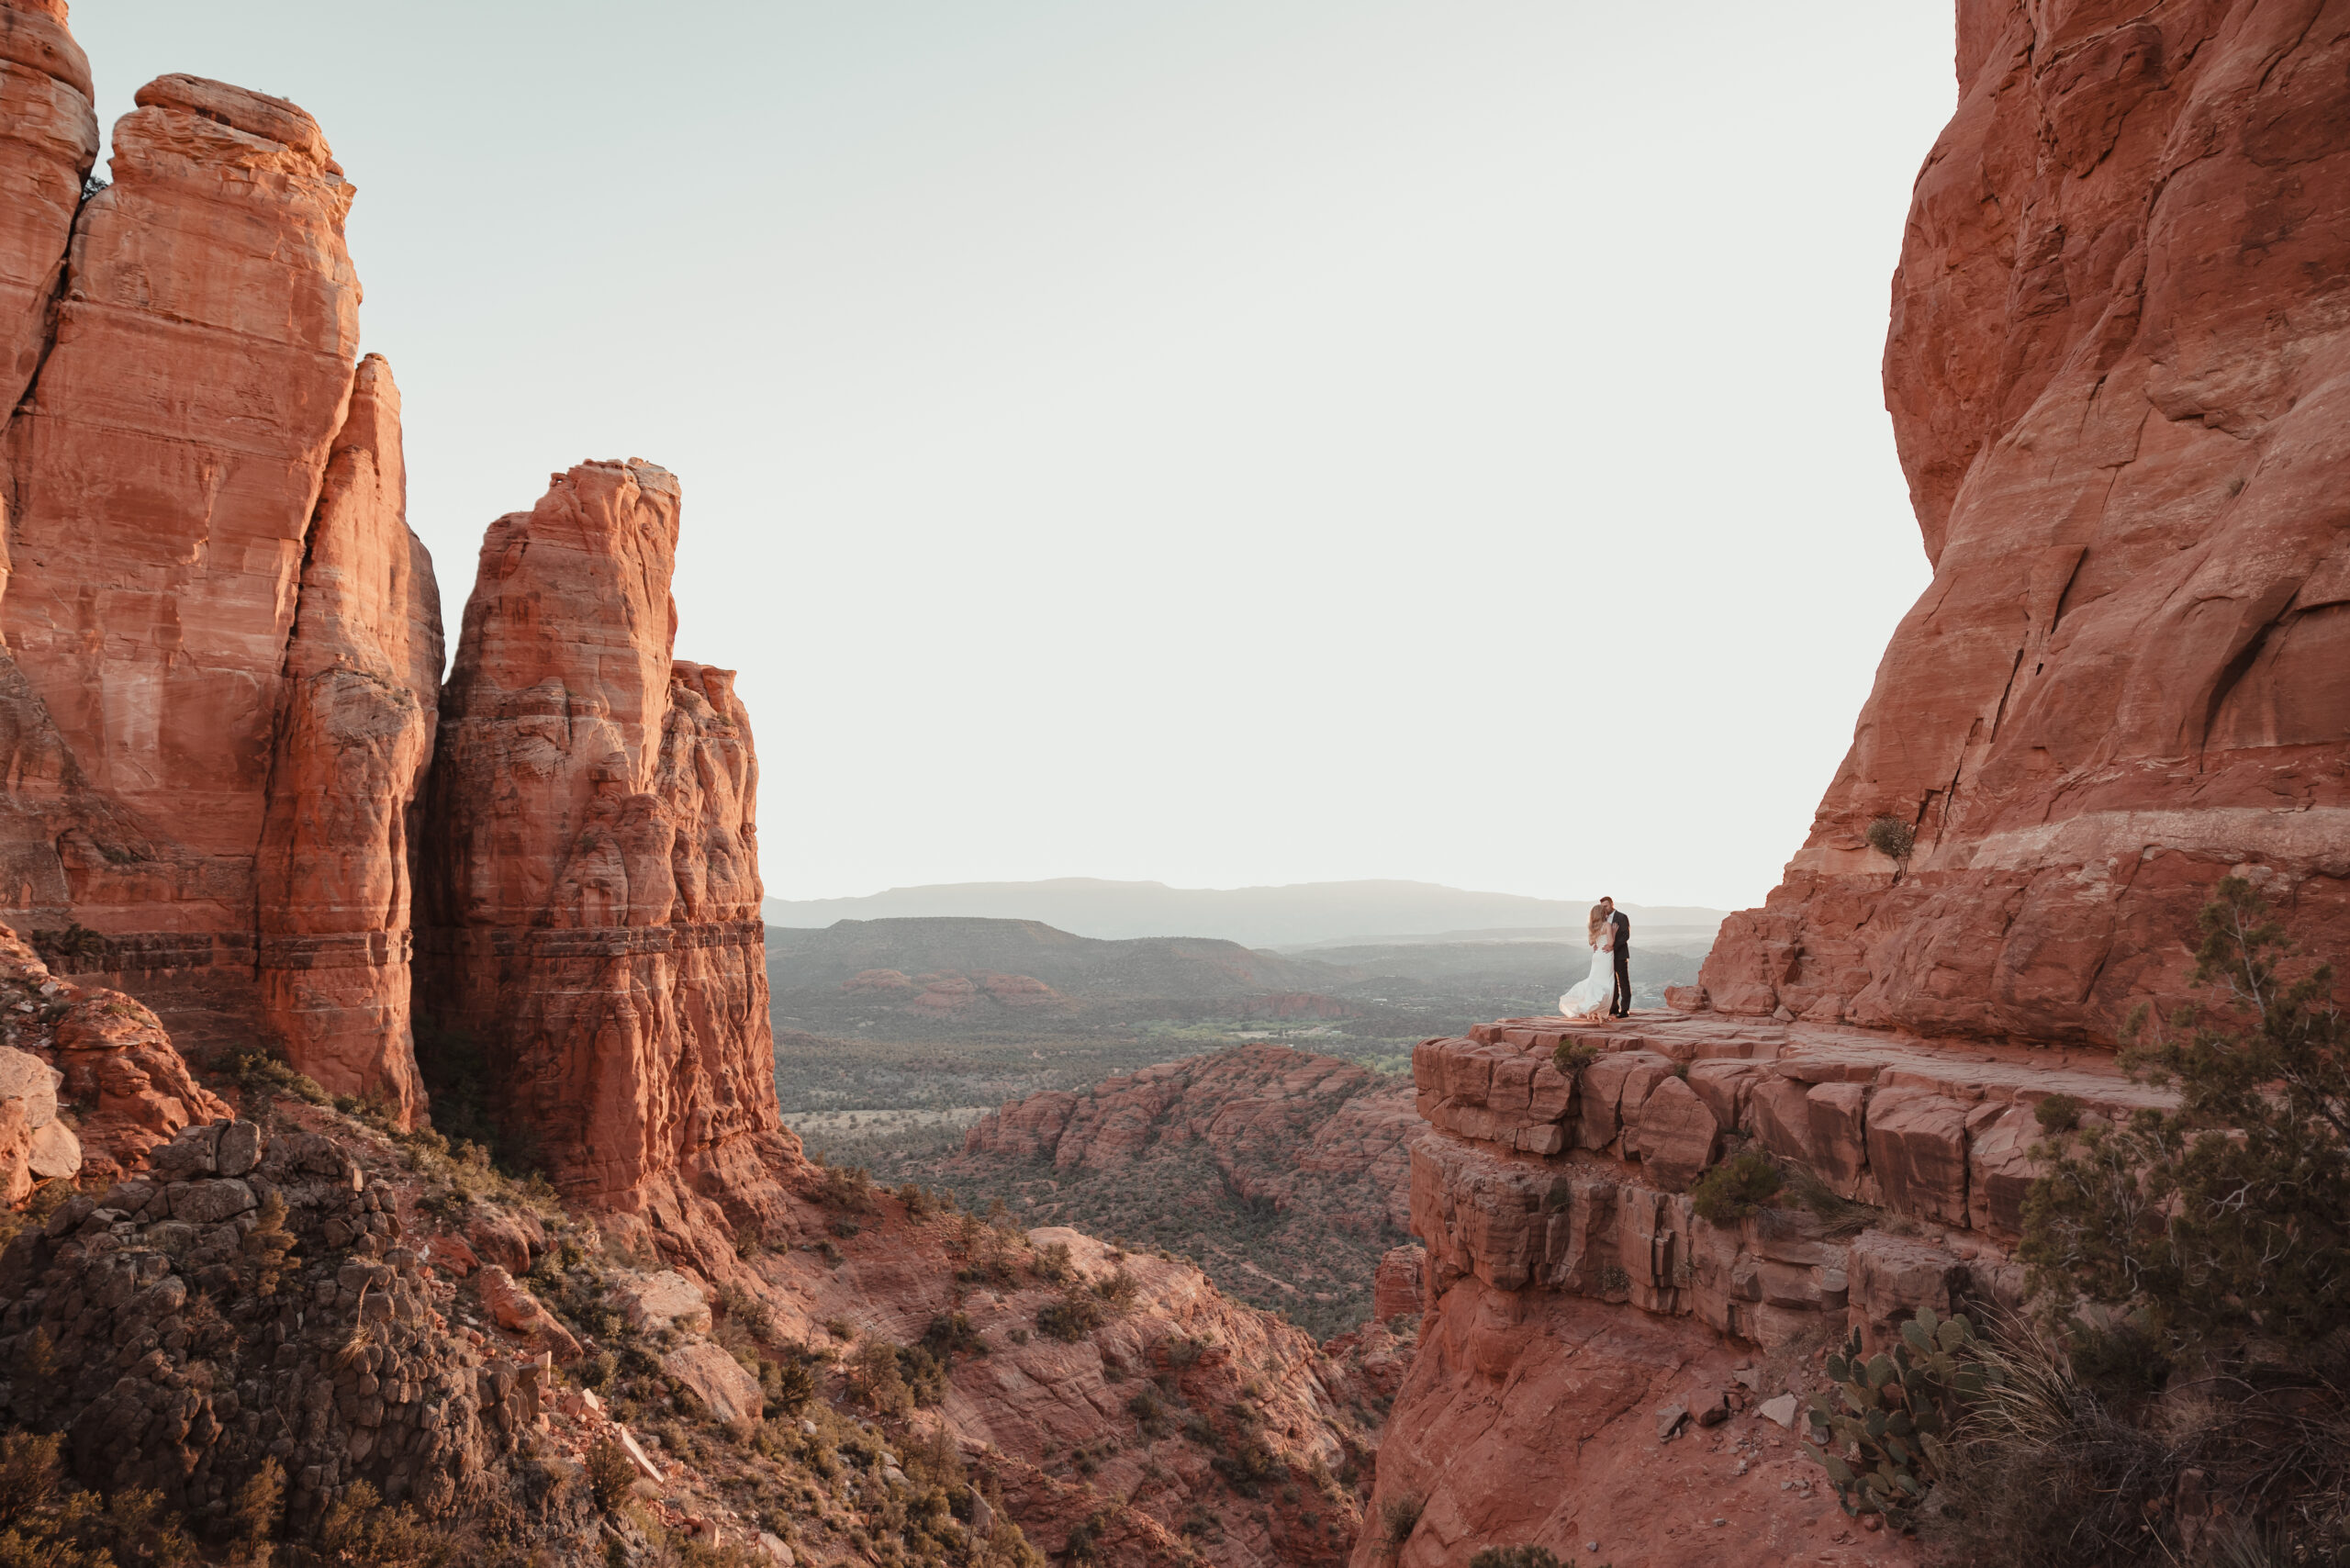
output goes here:
[[[59, 985], [21, 947], [0, 952], [14, 983]], [[92, 1004], [110, 1006], [68, 1001]], [[33, 1105], [52, 1070], [12, 1074], [14, 1056], [0, 1152], [21, 1121], [89, 1110], [73, 1077]], [[282, 1067], [230, 1095], [240, 1119], [195, 1100], [209, 1124], [0, 1253], [0, 1425], [63, 1432], [82, 1483], [157, 1490], [200, 1535], [266, 1460], [289, 1540], [331, 1530], [367, 1481], [414, 1509], [416, 1552], [494, 1561], [691, 1537], [783, 1563], [1027, 1568], [1029, 1540], [1340, 1563], [1361, 1523], [1408, 1361], [1386, 1328], [1323, 1349], [1189, 1265], [989, 1225], [790, 1147], [773, 1246], [743, 1239], [717, 1284], [663, 1267], [627, 1213], [566, 1211]], [[634, 1476], [623, 1505], [602, 1502], [599, 1448]]]

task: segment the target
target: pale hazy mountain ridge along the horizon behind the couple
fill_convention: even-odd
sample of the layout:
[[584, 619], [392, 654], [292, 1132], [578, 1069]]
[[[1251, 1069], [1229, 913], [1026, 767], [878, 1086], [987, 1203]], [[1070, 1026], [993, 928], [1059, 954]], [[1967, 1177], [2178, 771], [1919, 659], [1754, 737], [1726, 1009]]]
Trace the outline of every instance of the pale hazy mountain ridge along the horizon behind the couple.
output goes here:
[[[1175, 889], [1163, 882], [945, 882], [865, 898], [768, 898], [771, 926], [813, 929], [839, 919], [1034, 919], [1074, 936], [1222, 938], [1243, 947], [1396, 940], [1455, 931], [1582, 926], [1593, 900], [1473, 893], [1434, 882], [1300, 882], [1253, 889]], [[1624, 903], [1640, 931], [1711, 931], [1727, 914], [1690, 905]]]

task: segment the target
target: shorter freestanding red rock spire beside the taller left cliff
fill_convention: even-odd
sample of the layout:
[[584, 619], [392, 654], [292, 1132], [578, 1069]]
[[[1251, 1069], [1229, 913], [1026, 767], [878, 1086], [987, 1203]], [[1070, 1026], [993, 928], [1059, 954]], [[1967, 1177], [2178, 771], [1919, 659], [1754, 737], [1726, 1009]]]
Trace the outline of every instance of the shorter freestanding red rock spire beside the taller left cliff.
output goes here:
[[442, 693], [423, 1004], [576, 1201], [705, 1272], [780, 1222], [757, 759], [733, 675], [672, 663], [677, 480], [555, 475], [482, 541]]

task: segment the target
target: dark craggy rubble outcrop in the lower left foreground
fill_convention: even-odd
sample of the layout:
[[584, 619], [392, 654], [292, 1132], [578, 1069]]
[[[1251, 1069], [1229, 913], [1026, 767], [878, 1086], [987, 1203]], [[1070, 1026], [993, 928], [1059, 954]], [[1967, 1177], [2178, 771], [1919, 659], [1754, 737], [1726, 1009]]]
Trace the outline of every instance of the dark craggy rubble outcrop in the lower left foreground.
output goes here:
[[510, 1483], [550, 1392], [540, 1361], [449, 1333], [446, 1293], [334, 1140], [190, 1126], [0, 1253], [0, 1361], [26, 1373], [0, 1420], [70, 1432], [85, 1483], [183, 1514], [277, 1455], [294, 1519], [352, 1481], [444, 1519]]

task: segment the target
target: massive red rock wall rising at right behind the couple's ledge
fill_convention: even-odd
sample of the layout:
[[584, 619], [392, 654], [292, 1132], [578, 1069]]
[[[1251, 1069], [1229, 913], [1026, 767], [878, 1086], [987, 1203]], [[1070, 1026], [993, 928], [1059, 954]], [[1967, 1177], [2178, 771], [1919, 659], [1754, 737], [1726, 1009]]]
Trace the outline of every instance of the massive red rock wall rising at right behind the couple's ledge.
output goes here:
[[[1962, 0], [1885, 400], [1934, 583], [1716, 1009], [2110, 1041], [2225, 872], [2350, 943], [2350, 35]], [[1915, 827], [1894, 865], [1875, 818]]]

